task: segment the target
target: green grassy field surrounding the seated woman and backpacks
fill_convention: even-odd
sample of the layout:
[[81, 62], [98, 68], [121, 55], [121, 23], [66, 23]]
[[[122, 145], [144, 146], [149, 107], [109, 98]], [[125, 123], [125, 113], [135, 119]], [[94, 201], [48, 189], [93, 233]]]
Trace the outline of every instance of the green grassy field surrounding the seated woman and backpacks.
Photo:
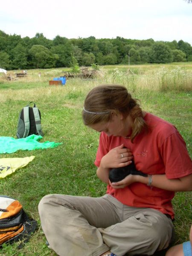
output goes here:
[[[49, 86], [49, 80], [67, 69], [28, 70], [26, 78], [5, 81], [0, 77], [0, 136], [15, 137], [20, 110], [33, 101], [41, 111], [44, 137], [41, 142], [61, 142], [57, 148], [17, 151], [0, 157], [35, 156], [25, 168], [0, 179], [0, 194], [17, 198], [30, 216], [38, 221], [38, 230], [21, 250], [6, 246], [0, 256], [55, 256], [45, 244], [38, 215], [38, 203], [44, 195], [61, 193], [99, 197], [106, 186], [96, 177], [93, 162], [99, 134], [83, 125], [81, 110], [88, 91], [105, 83], [124, 84], [141, 100], [145, 111], [172, 122], [186, 141], [192, 157], [192, 63], [131, 66], [135, 75], [127, 75], [127, 66], [101, 67], [97, 79], [67, 79], [65, 86]], [[41, 78], [38, 73], [41, 71]], [[15, 71], [9, 71], [14, 77]], [[192, 223], [192, 192], [177, 192], [175, 243], [189, 239]], [[163, 256], [164, 252], [156, 253]]]

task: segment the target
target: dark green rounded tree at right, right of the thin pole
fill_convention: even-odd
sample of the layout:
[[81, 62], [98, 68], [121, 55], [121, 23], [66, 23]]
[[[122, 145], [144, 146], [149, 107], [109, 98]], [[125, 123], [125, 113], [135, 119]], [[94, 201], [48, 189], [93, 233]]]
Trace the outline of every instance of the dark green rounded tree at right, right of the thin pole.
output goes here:
[[171, 49], [163, 42], [156, 42], [151, 47], [151, 63], [169, 63], [173, 61]]

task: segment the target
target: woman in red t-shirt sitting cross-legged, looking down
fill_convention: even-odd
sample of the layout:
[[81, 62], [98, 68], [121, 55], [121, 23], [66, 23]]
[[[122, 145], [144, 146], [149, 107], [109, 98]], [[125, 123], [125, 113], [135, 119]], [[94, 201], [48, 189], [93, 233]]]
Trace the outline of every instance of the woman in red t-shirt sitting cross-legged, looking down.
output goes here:
[[[142, 111], [119, 85], [102, 85], [87, 95], [84, 124], [100, 132], [95, 164], [107, 183], [100, 198], [47, 195], [39, 204], [50, 248], [60, 256], [152, 255], [173, 238], [175, 191], [192, 190], [192, 161], [169, 122]], [[112, 168], [134, 158], [138, 171], [111, 183]]]

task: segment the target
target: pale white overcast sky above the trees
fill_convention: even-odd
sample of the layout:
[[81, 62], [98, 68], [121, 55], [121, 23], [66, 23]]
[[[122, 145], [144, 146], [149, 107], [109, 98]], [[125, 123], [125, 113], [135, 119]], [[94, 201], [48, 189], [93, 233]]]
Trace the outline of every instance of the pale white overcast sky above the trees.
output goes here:
[[192, 45], [192, 3], [184, 0], [5, 0], [0, 30], [46, 38], [183, 40]]

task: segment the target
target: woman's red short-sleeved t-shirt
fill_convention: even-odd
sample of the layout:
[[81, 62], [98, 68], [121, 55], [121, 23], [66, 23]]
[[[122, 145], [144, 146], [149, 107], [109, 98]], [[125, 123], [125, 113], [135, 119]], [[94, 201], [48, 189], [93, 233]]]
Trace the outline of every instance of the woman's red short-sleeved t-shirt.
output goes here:
[[[134, 143], [124, 137], [108, 137], [101, 132], [95, 165], [99, 167], [102, 157], [112, 148], [122, 143], [134, 155], [137, 170], [150, 175], [166, 174], [168, 179], [175, 179], [192, 174], [192, 160], [186, 149], [186, 143], [172, 124], [151, 113], [146, 113], [145, 122], [148, 132], [137, 135]], [[122, 204], [131, 207], [157, 209], [174, 218], [171, 200], [174, 192], [152, 187], [143, 183], [133, 183], [124, 189], [107, 187], [107, 193]]]

